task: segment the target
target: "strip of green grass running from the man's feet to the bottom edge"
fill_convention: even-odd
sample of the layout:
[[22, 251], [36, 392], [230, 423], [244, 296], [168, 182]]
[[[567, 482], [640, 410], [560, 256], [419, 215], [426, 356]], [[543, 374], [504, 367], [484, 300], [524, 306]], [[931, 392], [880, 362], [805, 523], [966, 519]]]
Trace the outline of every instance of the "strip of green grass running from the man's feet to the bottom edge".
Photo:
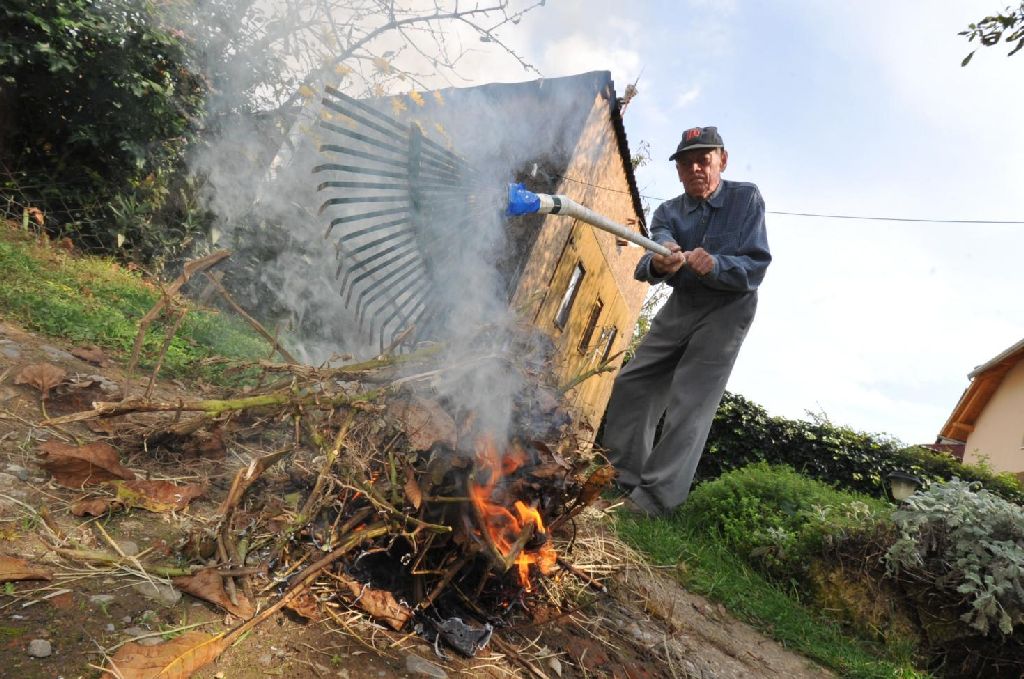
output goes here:
[[653, 563], [677, 564], [676, 575], [690, 591], [720, 601], [733, 616], [784, 646], [844, 677], [911, 679], [929, 675], [915, 670], [910, 648], [903, 656], [857, 639], [838, 624], [801, 604], [768, 582], [684, 513], [668, 519], [624, 516], [620, 535]]

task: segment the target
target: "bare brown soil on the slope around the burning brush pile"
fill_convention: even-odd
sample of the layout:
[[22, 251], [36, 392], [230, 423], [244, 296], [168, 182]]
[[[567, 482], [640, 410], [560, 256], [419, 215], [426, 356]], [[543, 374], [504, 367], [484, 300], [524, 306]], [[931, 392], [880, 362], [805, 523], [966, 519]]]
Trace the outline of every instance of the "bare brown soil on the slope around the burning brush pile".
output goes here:
[[[39, 514], [45, 508], [51, 528], [74, 537], [80, 545], [104, 548], [99, 525], [126, 553], [152, 550], [151, 554], [164, 553], [170, 559], [183, 535], [216, 520], [218, 504], [237, 469], [265, 453], [251, 441], [228, 441], [226, 456], [213, 460], [182, 461], [154, 451], [121, 451], [122, 462], [141, 476], [202, 480], [208, 482], [207, 492], [183, 512], [136, 509], [100, 519], [72, 515], [71, 503], [83, 493], [55, 484], [37, 464], [37, 447], [50, 438], [86, 442], [103, 434], [81, 424], [61, 430], [43, 426], [39, 391], [15, 385], [14, 378], [28, 365], [48, 363], [69, 375], [98, 375], [121, 384], [120, 367], [91, 365], [71, 355], [73, 348], [0, 322], [0, 555], [26, 559], [54, 575], [49, 582], [18, 582], [0, 588], [0, 675], [4, 677], [97, 677], [104, 653], [131, 638], [161, 632], [170, 636], [200, 623], [207, 625], [199, 629], [216, 632], [238, 623], [187, 594], [177, 601], [146, 598], [137, 587], [141, 578], [124, 569], [68, 560], [43, 539], [47, 528], [41, 525]], [[157, 388], [158, 395], [167, 399], [197, 398], [203, 393], [202, 385], [194, 384], [162, 382]], [[95, 394], [90, 397], [96, 399]], [[117, 395], [103, 399], [115, 400]], [[86, 408], [84, 394], [46, 402], [51, 416]], [[611, 520], [594, 512], [581, 531], [596, 540], [603, 536], [613, 545]], [[582, 563], [590, 555], [566, 556]], [[606, 594], [592, 591], [572, 610], [535, 610], [531, 622], [498, 630], [486, 648], [472, 659], [457, 657], [452, 651], [440, 657], [417, 634], [389, 631], [358, 612], [340, 610], [333, 620], [319, 623], [284, 612], [258, 626], [194, 676], [831, 676], [737, 622], [720, 605], [683, 590], [671, 572], [645, 567], [627, 554], [620, 556], [591, 570], [607, 586]], [[161, 636], [148, 639], [163, 641]], [[49, 641], [52, 652], [46, 657], [31, 656], [33, 640]]]

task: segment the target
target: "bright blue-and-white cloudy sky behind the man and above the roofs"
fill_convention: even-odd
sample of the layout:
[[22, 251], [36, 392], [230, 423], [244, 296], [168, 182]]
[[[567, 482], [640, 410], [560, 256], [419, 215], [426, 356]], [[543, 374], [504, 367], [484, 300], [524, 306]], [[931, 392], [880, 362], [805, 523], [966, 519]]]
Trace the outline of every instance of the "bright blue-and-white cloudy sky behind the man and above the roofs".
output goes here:
[[[637, 82], [626, 129], [651, 208], [681, 190], [682, 130], [717, 125], [725, 178], [772, 212], [1024, 220], [1024, 52], [957, 35], [1004, 0], [549, 0], [501, 33], [545, 77]], [[535, 79], [480, 55], [476, 82]], [[769, 214], [774, 261], [729, 389], [907, 443], [968, 373], [1024, 337], [1024, 224]]]

